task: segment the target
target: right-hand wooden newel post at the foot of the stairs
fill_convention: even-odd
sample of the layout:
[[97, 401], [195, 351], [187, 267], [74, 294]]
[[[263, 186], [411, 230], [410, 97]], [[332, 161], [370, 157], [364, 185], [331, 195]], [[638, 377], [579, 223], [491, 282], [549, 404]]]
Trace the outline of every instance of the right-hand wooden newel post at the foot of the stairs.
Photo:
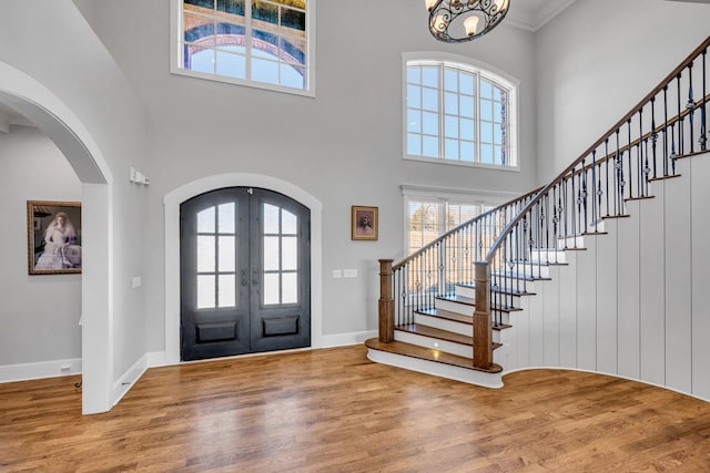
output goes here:
[[489, 369], [493, 364], [493, 327], [490, 321], [490, 267], [476, 261], [476, 310], [474, 311], [474, 367]]

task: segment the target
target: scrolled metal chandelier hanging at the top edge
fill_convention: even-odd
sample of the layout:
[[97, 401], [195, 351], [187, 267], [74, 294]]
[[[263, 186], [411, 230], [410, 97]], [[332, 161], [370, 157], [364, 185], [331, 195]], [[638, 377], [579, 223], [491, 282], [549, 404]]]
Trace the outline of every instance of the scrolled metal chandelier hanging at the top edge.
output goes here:
[[429, 31], [447, 43], [475, 40], [496, 28], [508, 7], [509, 0], [426, 0]]

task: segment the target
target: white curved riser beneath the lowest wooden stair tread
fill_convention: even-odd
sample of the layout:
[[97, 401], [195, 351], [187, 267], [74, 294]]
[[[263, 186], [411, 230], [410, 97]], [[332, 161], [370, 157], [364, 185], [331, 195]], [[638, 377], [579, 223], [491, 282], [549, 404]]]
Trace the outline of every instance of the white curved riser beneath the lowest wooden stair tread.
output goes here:
[[419, 358], [373, 350], [369, 348], [367, 349], [367, 359], [375, 363], [389, 364], [390, 367], [416, 371], [424, 374], [432, 374], [484, 388], [503, 388], [501, 373], [486, 373], [483, 371], [469, 370], [466, 368], [454, 367], [452, 364], [422, 360]]

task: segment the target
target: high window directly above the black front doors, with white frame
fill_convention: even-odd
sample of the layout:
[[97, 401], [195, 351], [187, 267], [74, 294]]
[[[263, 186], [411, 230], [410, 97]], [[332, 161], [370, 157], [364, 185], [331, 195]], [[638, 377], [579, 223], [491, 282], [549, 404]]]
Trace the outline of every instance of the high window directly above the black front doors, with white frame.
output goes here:
[[313, 95], [314, 0], [173, 0], [174, 73]]

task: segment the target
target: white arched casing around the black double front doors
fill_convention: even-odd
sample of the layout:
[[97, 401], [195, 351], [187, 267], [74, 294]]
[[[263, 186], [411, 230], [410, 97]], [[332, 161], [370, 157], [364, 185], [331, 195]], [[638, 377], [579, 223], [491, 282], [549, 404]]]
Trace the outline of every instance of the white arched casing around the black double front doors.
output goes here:
[[311, 347], [323, 346], [323, 204], [306, 191], [261, 174], [219, 174], [187, 183], [163, 197], [165, 205], [165, 364], [180, 363], [180, 204], [223, 187], [262, 187], [311, 209]]

